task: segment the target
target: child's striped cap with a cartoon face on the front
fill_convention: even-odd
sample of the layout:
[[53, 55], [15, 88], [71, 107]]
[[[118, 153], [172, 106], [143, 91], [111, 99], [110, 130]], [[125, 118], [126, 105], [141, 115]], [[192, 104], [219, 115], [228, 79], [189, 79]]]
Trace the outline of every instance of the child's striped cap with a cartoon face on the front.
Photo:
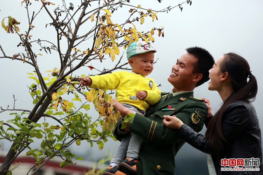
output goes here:
[[150, 46], [149, 43], [146, 43], [145, 41], [135, 41], [131, 43], [126, 50], [127, 59], [129, 60], [129, 58], [133, 55], [137, 55], [149, 51], [157, 52], [157, 50], [152, 46]]

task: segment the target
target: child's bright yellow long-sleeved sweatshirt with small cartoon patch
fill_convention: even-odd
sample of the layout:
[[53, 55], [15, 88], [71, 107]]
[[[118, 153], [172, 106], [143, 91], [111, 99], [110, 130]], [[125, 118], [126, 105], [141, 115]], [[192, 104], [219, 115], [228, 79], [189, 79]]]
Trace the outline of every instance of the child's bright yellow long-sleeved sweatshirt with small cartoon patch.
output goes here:
[[[120, 103], [128, 103], [143, 111], [153, 104], [158, 103], [161, 92], [154, 83], [153, 78], [146, 78], [134, 72], [117, 71], [111, 74], [89, 76], [92, 85], [89, 88], [116, 89], [116, 99]], [[147, 97], [139, 100], [136, 93], [147, 92]]]

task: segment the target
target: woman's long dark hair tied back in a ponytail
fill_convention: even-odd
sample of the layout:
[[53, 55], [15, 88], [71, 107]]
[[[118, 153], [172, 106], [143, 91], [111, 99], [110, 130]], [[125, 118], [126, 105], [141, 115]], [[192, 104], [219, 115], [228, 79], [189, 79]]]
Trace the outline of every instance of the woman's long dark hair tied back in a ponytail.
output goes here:
[[[257, 94], [257, 80], [251, 74], [248, 62], [236, 53], [224, 54], [224, 60], [220, 66], [221, 72], [227, 72], [231, 79], [233, 93], [224, 101], [207, 126], [205, 138], [209, 140], [216, 153], [221, 152], [223, 142], [226, 142], [222, 134], [222, 116], [226, 107], [234, 101], [254, 101]], [[247, 81], [247, 79], [249, 79]]]

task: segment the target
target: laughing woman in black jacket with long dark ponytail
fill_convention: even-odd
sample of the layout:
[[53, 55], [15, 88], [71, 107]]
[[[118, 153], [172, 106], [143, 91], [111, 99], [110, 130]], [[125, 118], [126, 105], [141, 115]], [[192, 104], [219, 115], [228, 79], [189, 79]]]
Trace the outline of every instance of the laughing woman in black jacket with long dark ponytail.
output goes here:
[[[194, 132], [175, 116], [164, 116], [163, 123], [170, 129], [179, 129], [181, 139], [209, 154], [210, 175], [215, 172], [219, 175], [262, 175], [261, 132], [255, 108], [249, 101], [255, 99], [257, 81], [248, 62], [240, 55], [227, 53], [218, 58], [209, 75], [211, 82], [208, 89], [216, 90], [224, 103], [213, 116], [210, 101], [204, 98], [208, 107], [205, 136]], [[210, 155], [212, 161], [209, 161]], [[224, 167], [221, 160], [231, 158], [259, 160], [260, 170], [221, 171]]]

